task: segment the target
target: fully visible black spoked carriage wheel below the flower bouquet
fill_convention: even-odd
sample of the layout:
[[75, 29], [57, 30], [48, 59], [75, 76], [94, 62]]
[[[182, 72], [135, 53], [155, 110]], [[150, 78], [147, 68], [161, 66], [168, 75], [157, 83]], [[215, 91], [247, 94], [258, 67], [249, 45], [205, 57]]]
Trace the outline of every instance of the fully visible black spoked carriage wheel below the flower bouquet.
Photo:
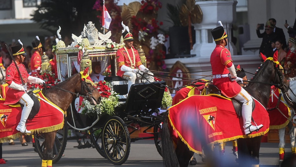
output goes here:
[[110, 117], [104, 125], [102, 136], [106, 158], [114, 165], [125, 163], [131, 149], [131, 138], [125, 122], [120, 117]]

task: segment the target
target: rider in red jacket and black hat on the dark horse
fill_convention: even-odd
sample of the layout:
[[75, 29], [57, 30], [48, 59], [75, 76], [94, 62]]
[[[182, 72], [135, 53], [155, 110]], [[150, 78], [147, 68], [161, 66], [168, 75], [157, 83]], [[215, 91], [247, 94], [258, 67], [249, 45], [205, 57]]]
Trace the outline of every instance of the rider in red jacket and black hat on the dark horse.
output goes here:
[[[242, 78], [236, 76], [236, 70], [231, 59], [230, 51], [225, 48], [228, 43], [227, 34], [222, 26], [211, 30], [216, 47], [211, 54], [211, 67], [213, 74], [213, 84], [218, 87], [223, 95], [234, 98], [243, 103], [242, 117], [244, 123], [244, 133], [249, 135], [263, 127], [262, 124], [256, 126], [251, 124], [252, 103], [251, 95], [247, 93], [237, 82], [243, 83]], [[236, 81], [236, 82], [234, 82]]]

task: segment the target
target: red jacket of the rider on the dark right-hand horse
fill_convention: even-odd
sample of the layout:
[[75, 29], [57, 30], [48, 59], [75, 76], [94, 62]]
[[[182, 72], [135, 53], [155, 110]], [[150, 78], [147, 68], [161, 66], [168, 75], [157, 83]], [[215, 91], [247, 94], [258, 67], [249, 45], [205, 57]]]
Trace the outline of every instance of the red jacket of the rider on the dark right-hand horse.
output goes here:
[[[232, 61], [230, 51], [222, 45], [216, 45], [211, 54], [212, 74], [228, 74], [229, 71], [225, 65], [226, 61]], [[213, 84], [218, 87], [223, 95], [232, 98], [241, 91], [241, 86], [236, 81], [231, 81], [228, 77], [213, 79]]]

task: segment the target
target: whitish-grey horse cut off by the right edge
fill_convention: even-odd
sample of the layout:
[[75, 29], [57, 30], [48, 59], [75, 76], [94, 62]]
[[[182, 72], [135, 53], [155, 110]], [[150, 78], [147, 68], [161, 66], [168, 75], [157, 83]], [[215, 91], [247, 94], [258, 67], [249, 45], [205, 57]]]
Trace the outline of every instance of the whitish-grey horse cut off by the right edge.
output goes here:
[[[296, 77], [295, 78], [290, 78], [290, 90], [289, 95], [291, 100], [293, 100], [294, 102], [296, 102], [296, 97], [293, 95], [293, 93], [296, 95]], [[293, 90], [293, 92], [291, 92], [291, 90]], [[284, 103], [287, 104], [287, 102], [284, 100], [282, 101]], [[293, 122], [295, 122], [295, 109], [291, 106], [289, 106], [291, 109], [291, 118], [293, 120]], [[296, 128], [295, 128], [295, 124], [292, 124], [291, 121], [289, 121], [288, 123], [288, 128], [289, 128], [289, 134], [290, 134], [290, 139], [291, 139], [291, 151], [292, 154], [296, 154], [296, 143], [295, 143], [295, 133], [296, 133]], [[279, 129], [279, 137], [280, 137], [280, 144], [279, 144], [279, 154], [280, 154], [280, 165], [283, 162], [283, 158], [284, 158], [284, 154], [285, 154], [285, 130], [286, 127]]]

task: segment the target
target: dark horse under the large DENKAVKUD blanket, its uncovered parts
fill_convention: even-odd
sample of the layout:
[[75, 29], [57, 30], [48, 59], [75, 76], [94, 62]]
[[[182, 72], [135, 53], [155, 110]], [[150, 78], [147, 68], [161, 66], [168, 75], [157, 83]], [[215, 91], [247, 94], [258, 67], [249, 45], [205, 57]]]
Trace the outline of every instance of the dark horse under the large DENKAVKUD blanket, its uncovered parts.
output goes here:
[[[277, 54], [274, 58], [268, 58], [262, 63], [261, 67], [254, 77], [249, 81], [249, 85], [245, 87], [247, 92], [257, 99], [265, 108], [269, 102], [270, 86], [275, 85], [280, 88], [284, 93], [288, 91], [289, 82], [283, 74], [282, 67], [277, 61]], [[186, 99], [185, 99], [186, 100]], [[172, 106], [174, 107], [174, 106]], [[182, 106], [186, 107], [186, 106]], [[269, 125], [265, 125], [269, 126]], [[239, 166], [251, 166], [251, 164], [259, 164], [259, 149], [262, 135], [253, 138], [240, 138], [238, 142], [238, 155]], [[204, 140], [201, 140], [201, 144], [206, 146]], [[171, 131], [168, 125], [168, 111], [164, 113], [163, 129], [162, 129], [162, 148], [163, 148], [163, 161], [166, 167], [187, 167], [190, 158], [194, 154], [188, 146], [179, 139], [176, 148], [171, 140]], [[206, 149], [205, 153], [210, 151]], [[211, 158], [211, 156], [209, 156]], [[210, 161], [215, 163], [215, 160]], [[221, 162], [220, 162], [221, 163]], [[217, 165], [217, 164], [216, 164]], [[221, 164], [220, 164], [221, 166]]]

